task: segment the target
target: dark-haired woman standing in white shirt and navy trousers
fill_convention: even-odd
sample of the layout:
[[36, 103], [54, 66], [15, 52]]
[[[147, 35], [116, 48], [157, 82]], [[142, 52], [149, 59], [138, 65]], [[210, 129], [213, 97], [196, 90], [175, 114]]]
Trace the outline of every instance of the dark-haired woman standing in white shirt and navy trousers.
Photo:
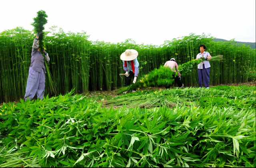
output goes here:
[[203, 87], [202, 81], [204, 80], [204, 86], [206, 89], [209, 89], [209, 82], [210, 82], [210, 63], [209, 60], [212, 59], [210, 53], [205, 52], [205, 45], [199, 46], [200, 53], [196, 56], [196, 59], [203, 59], [204, 61], [197, 66], [198, 71], [198, 84], [200, 88]]

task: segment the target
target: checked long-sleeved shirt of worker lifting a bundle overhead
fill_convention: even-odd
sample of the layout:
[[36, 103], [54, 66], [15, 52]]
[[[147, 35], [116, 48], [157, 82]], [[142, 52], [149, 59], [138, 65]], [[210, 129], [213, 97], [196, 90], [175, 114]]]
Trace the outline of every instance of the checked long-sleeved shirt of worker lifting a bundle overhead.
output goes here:
[[[34, 39], [33, 45], [32, 45], [32, 53], [31, 53], [31, 63], [30, 67], [32, 67], [37, 72], [41, 72], [42, 68], [44, 72], [46, 73], [45, 64], [44, 64], [44, 56], [41, 54], [40, 51], [38, 51], [39, 47], [39, 40]], [[46, 62], [48, 63], [50, 61], [50, 58], [48, 56], [48, 53], [45, 55]]]

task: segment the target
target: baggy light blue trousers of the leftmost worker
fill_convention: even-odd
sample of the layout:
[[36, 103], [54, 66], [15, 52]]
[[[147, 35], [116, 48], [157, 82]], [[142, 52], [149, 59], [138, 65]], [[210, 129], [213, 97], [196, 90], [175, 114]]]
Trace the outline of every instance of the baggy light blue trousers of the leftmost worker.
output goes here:
[[41, 72], [37, 72], [33, 68], [29, 67], [28, 70], [28, 82], [26, 86], [26, 94], [24, 99], [28, 98], [32, 100], [37, 94], [37, 98], [43, 100], [45, 88], [45, 74], [42, 68]]

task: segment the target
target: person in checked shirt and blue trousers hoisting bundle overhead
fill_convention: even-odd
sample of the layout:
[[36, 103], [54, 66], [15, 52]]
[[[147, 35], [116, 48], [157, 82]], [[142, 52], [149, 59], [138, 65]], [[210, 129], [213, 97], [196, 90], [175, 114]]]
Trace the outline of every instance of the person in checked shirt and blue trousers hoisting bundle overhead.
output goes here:
[[50, 58], [48, 53], [44, 51], [44, 49], [39, 51], [39, 36], [42, 34], [42, 31], [39, 31], [36, 34], [36, 39], [34, 39], [32, 45], [32, 53], [31, 53], [31, 63], [28, 70], [28, 81], [26, 86], [26, 94], [24, 96], [25, 101], [29, 98], [32, 100], [34, 96], [37, 94], [37, 98], [42, 100], [44, 98], [44, 88], [45, 88], [45, 64], [44, 64], [44, 56], [41, 53], [45, 54], [46, 62], [49, 63]]

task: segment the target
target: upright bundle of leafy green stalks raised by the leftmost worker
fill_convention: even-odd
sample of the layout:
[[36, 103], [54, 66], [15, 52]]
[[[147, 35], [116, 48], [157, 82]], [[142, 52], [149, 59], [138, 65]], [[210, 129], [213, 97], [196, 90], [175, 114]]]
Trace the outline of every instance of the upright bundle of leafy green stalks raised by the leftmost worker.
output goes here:
[[[39, 32], [39, 31], [43, 31], [44, 30], [44, 25], [47, 23], [46, 18], [48, 18], [48, 16], [46, 15], [46, 12], [43, 10], [40, 10], [37, 12], [37, 16], [36, 18], [34, 18], [34, 22], [31, 23], [32, 26], [34, 26], [34, 31], [35, 33]], [[42, 49], [46, 49], [45, 45], [44, 45], [44, 31], [43, 33], [39, 36], [39, 49], [42, 51]], [[43, 54], [44, 56], [44, 54]], [[45, 63], [45, 67], [46, 67], [46, 72], [47, 72], [47, 76], [48, 76], [48, 86], [49, 86], [49, 90], [51, 94], [57, 94], [54, 83], [52, 81], [52, 75], [50, 73], [50, 69], [49, 69], [49, 65], [46, 63], [46, 59], [44, 59], [44, 63]]]

